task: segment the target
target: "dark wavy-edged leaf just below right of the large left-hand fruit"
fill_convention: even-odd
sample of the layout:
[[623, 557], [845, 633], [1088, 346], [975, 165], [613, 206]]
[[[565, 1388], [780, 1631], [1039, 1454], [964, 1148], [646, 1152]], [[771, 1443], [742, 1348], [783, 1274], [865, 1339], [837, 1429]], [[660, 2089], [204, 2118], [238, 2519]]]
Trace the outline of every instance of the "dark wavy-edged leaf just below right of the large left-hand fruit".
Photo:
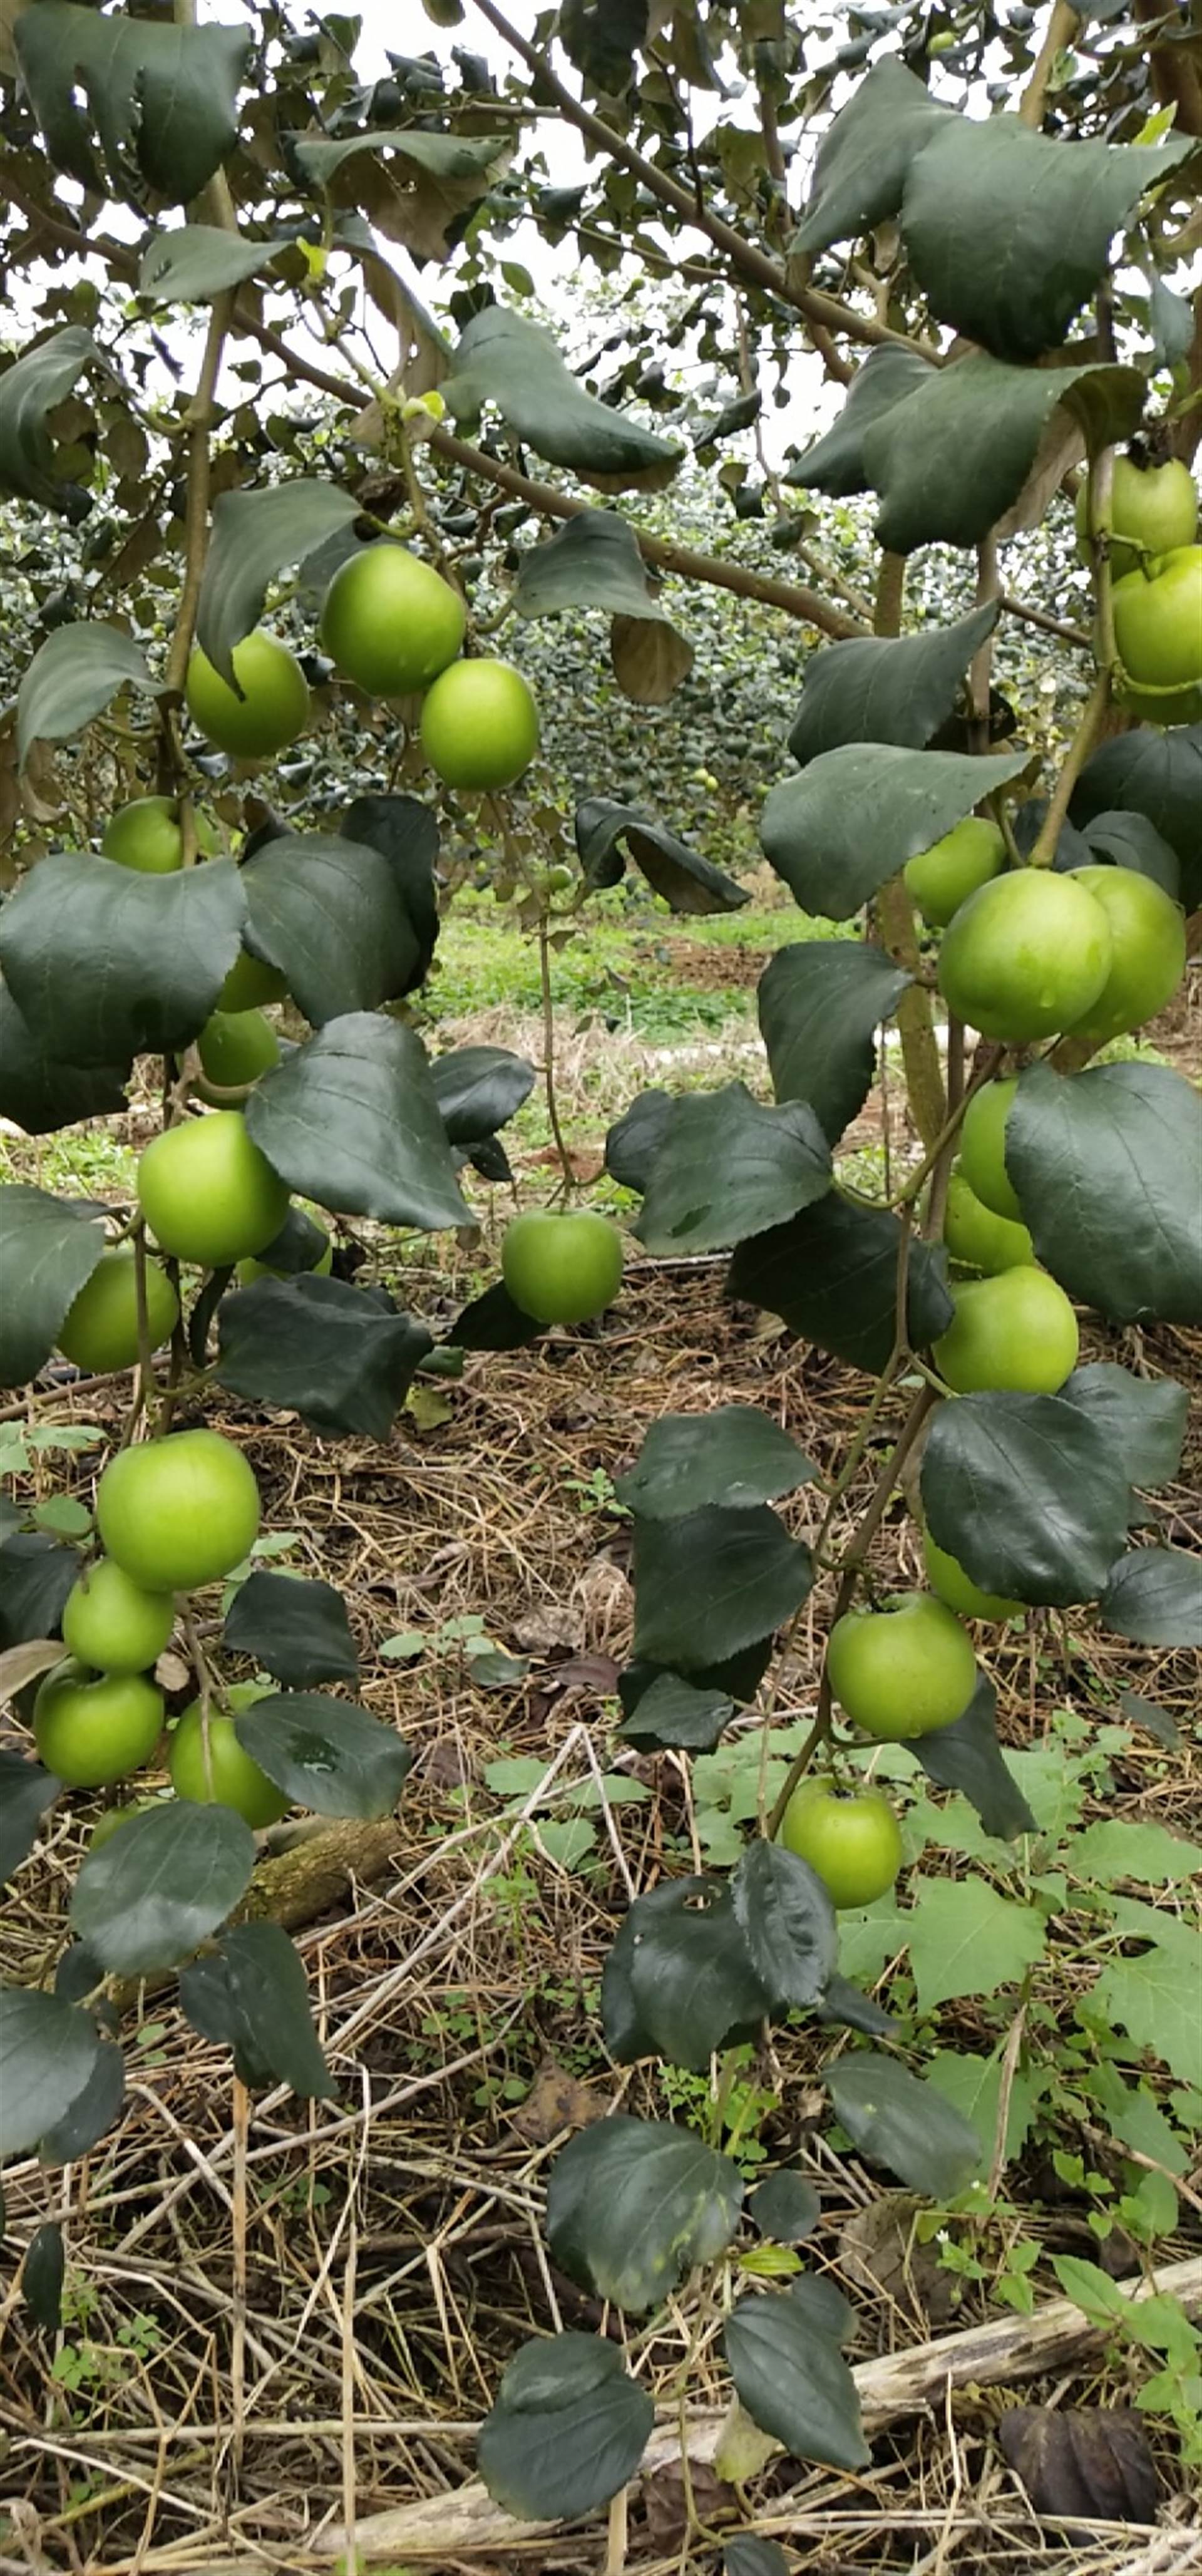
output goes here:
[[386, 1440], [432, 1337], [384, 1288], [335, 1278], [255, 1280], [219, 1306], [216, 1376], [314, 1430]]

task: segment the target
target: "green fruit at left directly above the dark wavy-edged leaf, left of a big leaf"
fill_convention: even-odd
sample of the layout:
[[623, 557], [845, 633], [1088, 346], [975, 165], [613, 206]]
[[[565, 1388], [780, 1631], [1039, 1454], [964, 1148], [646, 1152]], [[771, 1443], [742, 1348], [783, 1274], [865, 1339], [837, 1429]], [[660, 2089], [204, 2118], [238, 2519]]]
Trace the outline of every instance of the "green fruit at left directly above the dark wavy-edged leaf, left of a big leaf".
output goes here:
[[139, 1157], [136, 1193], [154, 1242], [203, 1270], [263, 1252], [288, 1213], [288, 1190], [247, 1136], [242, 1110], [208, 1110], [154, 1136]]

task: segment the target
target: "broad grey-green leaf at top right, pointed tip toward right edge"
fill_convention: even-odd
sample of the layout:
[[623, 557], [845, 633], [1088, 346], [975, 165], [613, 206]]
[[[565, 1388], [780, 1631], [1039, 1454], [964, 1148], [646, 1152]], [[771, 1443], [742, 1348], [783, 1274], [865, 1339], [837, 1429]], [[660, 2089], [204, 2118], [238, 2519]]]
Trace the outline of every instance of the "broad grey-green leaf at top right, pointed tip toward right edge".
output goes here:
[[1107, 270], [1112, 234], [1192, 149], [1189, 137], [1050, 142], [1017, 116], [942, 118], [909, 167], [901, 206], [932, 314], [996, 358], [1060, 348]]

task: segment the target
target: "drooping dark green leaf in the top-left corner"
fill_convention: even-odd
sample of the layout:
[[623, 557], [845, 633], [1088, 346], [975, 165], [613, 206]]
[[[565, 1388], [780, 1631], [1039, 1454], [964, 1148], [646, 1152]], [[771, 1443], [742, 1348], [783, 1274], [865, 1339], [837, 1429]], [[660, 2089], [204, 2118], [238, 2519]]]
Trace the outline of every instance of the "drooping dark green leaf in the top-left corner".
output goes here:
[[234, 144], [250, 41], [250, 28], [239, 26], [103, 18], [72, 0], [41, 0], [13, 28], [54, 167], [98, 196], [116, 191], [139, 204], [142, 191], [129, 185], [136, 160], [170, 206], [201, 196]]

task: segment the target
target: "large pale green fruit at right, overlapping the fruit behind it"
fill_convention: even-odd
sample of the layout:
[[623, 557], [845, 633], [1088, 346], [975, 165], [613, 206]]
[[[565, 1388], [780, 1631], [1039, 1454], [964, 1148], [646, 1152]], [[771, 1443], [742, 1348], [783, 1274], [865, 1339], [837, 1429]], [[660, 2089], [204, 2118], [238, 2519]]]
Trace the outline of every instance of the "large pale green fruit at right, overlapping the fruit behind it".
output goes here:
[[1086, 1015], [1109, 963], [1109, 920], [1089, 886], [1017, 868], [970, 894], [945, 930], [939, 992], [983, 1038], [1030, 1046]]

